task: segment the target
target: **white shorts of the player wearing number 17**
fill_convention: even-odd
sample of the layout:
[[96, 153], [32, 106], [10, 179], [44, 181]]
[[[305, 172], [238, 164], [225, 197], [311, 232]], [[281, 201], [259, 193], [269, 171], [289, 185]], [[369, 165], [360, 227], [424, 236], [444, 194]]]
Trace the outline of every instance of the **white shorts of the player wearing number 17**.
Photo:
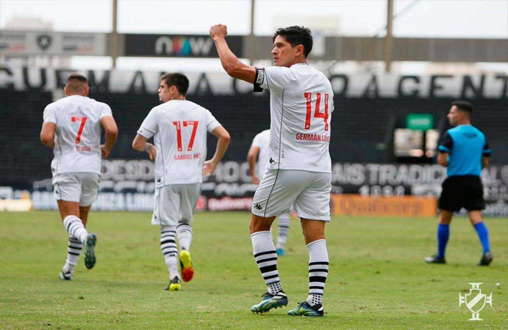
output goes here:
[[200, 194], [201, 184], [155, 188], [152, 225], [176, 227], [178, 222], [190, 223]]

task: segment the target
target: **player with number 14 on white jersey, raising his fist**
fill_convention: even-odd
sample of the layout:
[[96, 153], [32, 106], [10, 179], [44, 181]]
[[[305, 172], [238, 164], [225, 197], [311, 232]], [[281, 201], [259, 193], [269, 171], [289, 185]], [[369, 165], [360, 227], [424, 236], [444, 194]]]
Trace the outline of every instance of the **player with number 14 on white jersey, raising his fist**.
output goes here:
[[328, 274], [325, 223], [330, 221], [329, 153], [333, 91], [330, 81], [307, 63], [312, 49], [308, 28], [279, 28], [273, 35], [275, 66], [256, 68], [238, 60], [225, 37], [225, 25], [210, 36], [220, 62], [231, 77], [270, 89], [270, 159], [252, 201], [250, 237], [254, 258], [268, 286], [263, 300], [251, 307], [262, 313], [288, 304], [277, 272], [270, 227], [275, 216], [294, 204], [309, 253], [309, 294], [289, 315], [323, 316], [322, 296]]

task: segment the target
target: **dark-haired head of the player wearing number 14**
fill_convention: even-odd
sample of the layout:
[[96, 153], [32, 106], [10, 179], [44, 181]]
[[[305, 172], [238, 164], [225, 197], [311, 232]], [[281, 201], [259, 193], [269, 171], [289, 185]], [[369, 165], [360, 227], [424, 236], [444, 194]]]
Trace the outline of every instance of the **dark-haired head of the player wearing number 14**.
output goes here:
[[312, 50], [312, 34], [309, 28], [289, 26], [279, 28], [273, 34], [273, 62], [276, 66], [291, 66], [305, 62]]

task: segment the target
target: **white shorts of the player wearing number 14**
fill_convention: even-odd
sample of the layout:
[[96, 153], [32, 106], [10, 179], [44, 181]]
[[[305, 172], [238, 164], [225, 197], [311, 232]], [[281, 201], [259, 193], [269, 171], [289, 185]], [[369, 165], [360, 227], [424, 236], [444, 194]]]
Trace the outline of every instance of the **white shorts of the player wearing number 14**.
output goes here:
[[330, 221], [331, 184], [331, 173], [268, 170], [252, 199], [252, 213], [279, 216], [294, 206], [298, 217]]

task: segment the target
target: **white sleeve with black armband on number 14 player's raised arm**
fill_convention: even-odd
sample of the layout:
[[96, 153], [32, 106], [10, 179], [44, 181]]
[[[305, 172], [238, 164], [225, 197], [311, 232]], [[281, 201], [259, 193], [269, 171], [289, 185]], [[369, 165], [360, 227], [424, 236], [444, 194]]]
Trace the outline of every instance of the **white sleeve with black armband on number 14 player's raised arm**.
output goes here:
[[294, 72], [289, 67], [268, 66], [256, 68], [254, 91], [257, 91], [257, 88], [282, 90], [294, 84], [295, 81]]

